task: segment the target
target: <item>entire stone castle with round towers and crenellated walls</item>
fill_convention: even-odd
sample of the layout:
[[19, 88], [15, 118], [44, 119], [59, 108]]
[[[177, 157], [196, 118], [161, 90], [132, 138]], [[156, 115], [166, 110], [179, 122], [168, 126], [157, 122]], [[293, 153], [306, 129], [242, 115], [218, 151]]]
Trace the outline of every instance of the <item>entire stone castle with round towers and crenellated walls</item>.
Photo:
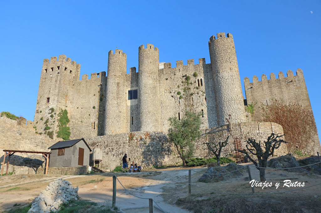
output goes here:
[[[65, 55], [60, 55], [58, 60], [57, 57], [44, 59], [33, 125], [38, 132], [44, 133], [47, 126], [56, 132], [58, 112], [66, 109], [71, 139], [119, 134], [128, 138], [129, 132], [166, 134], [168, 119], [173, 116], [180, 119], [188, 110], [202, 113], [203, 131], [227, 125], [229, 118], [240, 134], [242, 128], [253, 125], [256, 127], [249, 128], [248, 133], [258, 134], [263, 131], [260, 129], [263, 125], [270, 128], [264, 133], [268, 135], [277, 124], [253, 124], [245, 111], [246, 103], [269, 104], [273, 98], [282, 98], [311, 109], [302, 70], [298, 69], [296, 75], [289, 70], [287, 77], [280, 72], [279, 78], [272, 73], [269, 80], [265, 75], [261, 81], [254, 76], [252, 83], [246, 77], [244, 100], [233, 36], [218, 33], [208, 44], [211, 63], [206, 64], [205, 58], [200, 58], [195, 64], [190, 59], [187, 65], [176, 61], [173, 68], [170, 63], [159, 63], [157, 47], [141, 45], [138, 72], [131, 67], [129, 74], [126, 74], [126, 54], [120, 49], [110, 50], [107, 76], [105, 72], [92, 73], [90, 79], [82, 75], [81, 80], [80, 64]], [[279, 126], [278, 132], [282, 133]], [[56, 139], [56, 134], [53, 137]]]

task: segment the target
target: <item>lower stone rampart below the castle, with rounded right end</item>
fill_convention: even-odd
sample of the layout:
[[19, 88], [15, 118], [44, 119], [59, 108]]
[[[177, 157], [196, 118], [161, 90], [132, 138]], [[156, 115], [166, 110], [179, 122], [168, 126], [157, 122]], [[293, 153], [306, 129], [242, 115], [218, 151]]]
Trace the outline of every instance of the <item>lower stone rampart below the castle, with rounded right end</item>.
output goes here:
[[[222, 149], [222, 156], [234, 155], [234, 138], [241, 140], [242, 149], [245, 148], [247, 138], [264, 141], [271, 133], [283, 134], [281, 125], [270, 122], [244, 122], [232, 124], [232, 130], [227, 125], [206, 129], [200, 140], [195, 142], [195, 155], [202, 158], [213, 155], [204, 144], [207, 141], [224, 141], [229, 138], [228, 146]], [[131, 132], [116, 135], [105, 135], [85, 138], [92, 148], [100, 148], [103, 152], [100, 166], [113, 170], [121, 165], [122, 157], [127, 154], [128, 162], [135, 161], [143, 167], [181, 164], [174, 145], [168, 142], [167, 135], [162, 132]], [[276, 149], [274, 155], [287, 154], [286, 145]], [[90, 162], [92, 163], [92, 161]]]

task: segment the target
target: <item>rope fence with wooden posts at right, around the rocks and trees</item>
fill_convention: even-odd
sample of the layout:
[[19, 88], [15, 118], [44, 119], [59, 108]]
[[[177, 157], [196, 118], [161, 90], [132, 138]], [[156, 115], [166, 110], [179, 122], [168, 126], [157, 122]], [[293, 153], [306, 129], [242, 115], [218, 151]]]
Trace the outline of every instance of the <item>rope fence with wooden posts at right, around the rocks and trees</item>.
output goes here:
[[[319, 153], [318, 153], [318, 154], [319, 154]], [[320, 158], [319, 158], [319, 160], [320, 160]], [[252, 195], [252, 194], [276, 194], [276, 193], [285, 193], [285, 192], [289, 192], [289, 191], [297, 191], [297, 190], [301, 190], [301, 189], [306, 189], [306, 188], [313, 187], [313, 186], [317, 186], [317, 185], [320, 185], [320, 184], [321, 184], [321, 183], [318, 183], [318, 184], [315, 184], [315, 185], [312, 185], [312, 186], [307, 186], [307, 187], [303, 187], [303, 188], [299, 188], [299, 189], [293, 189], [293, 190], [288, 190], [288, 191], [276, 191], [276, 192], [265, 192], [265, 193], [255, 193], [254, 187], [251, 186], [251, 188], [252, 188], [252, 193], [230, 193], [230, 192], [223, 192], [223, 191], [215, 191], [215, 190], [205, 189], [205, 188], [203, 188], [203, 187], [196, 186], [195, 184], [192, 184], [192, 181], [191, 181], [191, 180], [192, 180], [192, 177], [191, 177], [191, 176], [192, 176], [192, 171], [193, 171], [193, 172], [196, 172], [196, 173], [209, 174], [209, 175], [221, 175], [221, 174], [227, 174], [227, 173], [236, 172], [236, 171], [238, 171], [238, 170], [247, 168], [247, 172], [248, 172], [249, 179], [252, 180], [251, 171], [250, 171], [250, 166], [256, 167], [256, 168], [264, 168], [264, 169], [296, 169], [296, 168], [311, 166], [311, 165], [315, 165], [315, 164], [320, 164], [320, 165], [321, 165], [321, 161], [320, 161], [320, 162], [317, 162], [317, 163], [314, 163], [314, 164], [309, 164], [309, 165], [305, 165], [305, 166], [298, 166], [298, 167], [291, 167], [291, 168], [266, 168], [266, 167], [259, 167], [259, 166], [247, 165], [247, 166], [245, 166], [245, 167], [242, 167], [242, 168], [239, 168], [239, 169], [230, 171], [230, 172], [226, 172], [226, 173], [216, 173], [216, 174], [213, 174], [213, 173], [203, 173], [203, 172], [195, 171], [195, 170], [193, 170], [193, 169], [189, 169], [189, 170], [188, 170], [188, 195], [191, 194], [191, 186], [195, 186], [195, 187], [200, 188], [200, 189], [203, 189], [203, 190], [213, 191], [213, 192], [223, 193], [223, 194]]]

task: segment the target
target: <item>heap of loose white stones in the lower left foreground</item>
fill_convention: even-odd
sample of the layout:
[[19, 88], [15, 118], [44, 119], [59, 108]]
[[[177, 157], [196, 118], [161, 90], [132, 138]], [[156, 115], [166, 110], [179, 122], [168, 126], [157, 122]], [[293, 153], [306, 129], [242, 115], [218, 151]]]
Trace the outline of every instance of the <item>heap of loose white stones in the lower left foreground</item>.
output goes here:
[[60, 204], [69, 200], [78, 200], [78, 187], [74, 188], [71, 182], [66, 180], [56, 180], [49, 183], [47, 188], [41, 191], [40, 195], [33, 200], [30, 212], [49, 213], [57, 211]]

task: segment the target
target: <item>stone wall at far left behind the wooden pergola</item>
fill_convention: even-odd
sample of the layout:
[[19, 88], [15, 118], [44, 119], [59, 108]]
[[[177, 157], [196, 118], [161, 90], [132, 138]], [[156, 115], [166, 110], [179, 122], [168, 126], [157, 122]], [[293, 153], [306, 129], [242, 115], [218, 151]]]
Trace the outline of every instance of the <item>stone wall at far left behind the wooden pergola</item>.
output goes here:
[[[31, 121], [29, 121], [31, 122]], [[0, 117], [0, 169], [4, 158], [3, 150], [26, 150], [48, 152], [48, 147], [56, 141], [46, 135], [35, 133], [28, 125], [19, 125], [17, 121]], [[4, 162], [4, 173], [8, 157]], [[15, 153], [10, 157], [8, 172], [15, 174], [35, 174], [41, 167], [45, 167], [45, 157], [41, 154]]]

